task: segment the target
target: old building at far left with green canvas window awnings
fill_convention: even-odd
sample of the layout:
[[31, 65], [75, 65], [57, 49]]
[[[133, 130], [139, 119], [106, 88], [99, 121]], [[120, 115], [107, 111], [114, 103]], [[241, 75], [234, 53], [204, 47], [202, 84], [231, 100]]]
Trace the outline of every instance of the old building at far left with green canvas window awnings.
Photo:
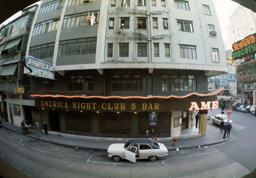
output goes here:
[[22, 94], [18, 94], [18, 89], [24, 87], [22, 60], [37, 7], [34, 5], [23, 9], [18, 18], [0, 28], [1, 118], [15, 125], [20, 125], [24, 115], [21, 109]]

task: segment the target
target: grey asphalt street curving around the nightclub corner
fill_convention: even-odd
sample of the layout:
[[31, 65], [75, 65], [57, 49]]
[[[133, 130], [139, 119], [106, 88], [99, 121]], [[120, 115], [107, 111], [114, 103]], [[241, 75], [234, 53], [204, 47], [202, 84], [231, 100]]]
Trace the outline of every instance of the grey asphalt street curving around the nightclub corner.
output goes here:
[[[212, 116], [220, 110], [209, 112]], [[155, 162], [114, 162], [105, 151], [45, 143], [0, 129], [0, 167], [4, 177], [243, 177], [256, 167], [255, 122], [250, 113], [233, 111], [235, 138], [208, 147], [170, 151]], [[212, 122], [207, 121], [210, 125]], [[216, 126], [216, 134], [219, 128]], [[222, 137], [222, 134], [220, 134]], [[3, 162], [0, 162], [3, 164]], [[8, 169], [9, 167], [9, 169]], [[24, 175], [23, 175], [24, 176]]]

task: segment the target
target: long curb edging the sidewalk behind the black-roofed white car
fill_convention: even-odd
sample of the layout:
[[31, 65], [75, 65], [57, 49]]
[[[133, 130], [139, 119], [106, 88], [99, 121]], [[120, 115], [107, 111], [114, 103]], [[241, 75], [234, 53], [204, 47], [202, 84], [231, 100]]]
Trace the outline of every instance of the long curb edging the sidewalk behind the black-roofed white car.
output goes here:
[[[6, 128], [3, 126], [3, 128], [7, 129], [7, 130], [11, 130], [9, 128]], [[17, 132], [16, 130], [11, 130], [15, 133], [18, 133], [20, 135], [22, 135], [20, 132]], [[216, 144], [220, 144], [220, 143], [223, 143], [223, 142], [227, 142], [229, 140], [231, 140], [233, 134], [231, 133], [230, 134], [231, 137], [229, 139], [225, 139], [221, 142], [215, 142], [215, 143], [210, 143], [210, 144], [204, 144], [204, 145], [197, 145], [197, 146], [189, 146], [189, 147], [181, 147], [179, 148], [179, 150], [186, 150], [186, 149], [191, 149], [191, 148], [197, 148], [198, 146], [200, 147], [203, 147], [203, 146], [210, 146], [210, 145], [216, 145]], [[57, 142], [53, 142], [53, 141], [49, 141], [49, 140], [44, 140], [44, 139], [41, 139], [41, 138], [36, 138], [36, 137], [31, 137], [31, 136], [28, 136], [28, 135], [25, 135], [26, 137], [29, 137], [29, 138], [33, 138], [33, 139], [36, 139], [36, 140], [40, 140], [40, 141], [43, 141], [43, 142], [46, 142], [46, 143], [51, 143], [51, 144], [54, 144], [54, 145], [60, 145], [60, 146], [65, 146], [65, 147], [69, 147], [69, 148], [80, 148], [80, 149], [85, 149], [85, 150], [101, 150], [101, 151], [107, 151], [107, 149], [99, 149], [99, 148], [89, 148], [89, 147], [79, 147], [79, 146], [74, 146], [74, 145], [67, 145], [67, 144], [62, 144], [62, 143], [57, 143]], [[167, 149], [168, 151], [176, 151], [178, 147], [176, 148], [169, 148]]]

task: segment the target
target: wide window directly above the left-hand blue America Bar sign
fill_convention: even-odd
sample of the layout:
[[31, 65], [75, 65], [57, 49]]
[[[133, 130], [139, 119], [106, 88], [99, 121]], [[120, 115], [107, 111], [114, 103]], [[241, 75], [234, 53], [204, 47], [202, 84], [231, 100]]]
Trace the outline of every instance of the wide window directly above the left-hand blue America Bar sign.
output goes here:
[[35, 46], [35, 47], [30, 47], [28, 54], [29, 54], [29, 56], [34, 56], [38, 59], [53, 57], [54, 44], [55, 43], [50, 43], [47, 45], [44, 44], [44, 45], [39, 45], [39, 46]]

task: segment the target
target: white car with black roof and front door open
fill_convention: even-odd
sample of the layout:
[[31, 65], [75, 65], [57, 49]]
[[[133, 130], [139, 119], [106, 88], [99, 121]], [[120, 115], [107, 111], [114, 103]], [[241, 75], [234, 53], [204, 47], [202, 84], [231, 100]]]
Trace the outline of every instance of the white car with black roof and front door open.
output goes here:
[[116, 162], [121, 158], [133, 163], [136, 163], [136, 159], [155, 161], [157, 158], [167, 156], [167, 153], [164, 144], [148, 139], [131, 139], [125, 144], [111, 144], [108, 147], [108, 157]]

